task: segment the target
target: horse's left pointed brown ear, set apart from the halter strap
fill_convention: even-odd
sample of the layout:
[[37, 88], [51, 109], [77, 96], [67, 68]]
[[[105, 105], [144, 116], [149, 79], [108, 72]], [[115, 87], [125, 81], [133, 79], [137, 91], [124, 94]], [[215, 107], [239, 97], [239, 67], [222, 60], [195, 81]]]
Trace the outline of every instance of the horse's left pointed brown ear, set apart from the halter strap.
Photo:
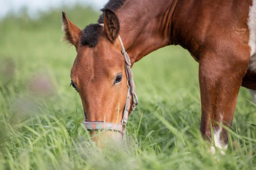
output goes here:
[[64, 12], [62, 12], [63, 30], [65, 32], [64, 40], [73, 44], [76, 48], [79, 44], [79, 37], [82, 31], [71, 21]]

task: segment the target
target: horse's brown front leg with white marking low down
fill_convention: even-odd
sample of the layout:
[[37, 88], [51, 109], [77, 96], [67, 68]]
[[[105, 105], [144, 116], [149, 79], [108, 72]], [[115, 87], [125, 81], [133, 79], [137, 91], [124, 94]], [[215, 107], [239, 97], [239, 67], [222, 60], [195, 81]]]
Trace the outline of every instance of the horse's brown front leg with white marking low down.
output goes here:
[[[247, 48], [248, 49], [248, 48]], [[250, 60], [249, 50], [234, 53], [227, 51], [205, 52], [199, 61], [199, 83], [202, 104], [200, 130], [207, 139], [213, 139], [210, 124], [214, 132], [215, 146], [227, 148], [227, 132], [218, 124], [232, 125], [236, 101], [242, 78]], [[215, 148], [212, 146], [212, 152]], [[222, 151], [224, 153], [224, 151]]]

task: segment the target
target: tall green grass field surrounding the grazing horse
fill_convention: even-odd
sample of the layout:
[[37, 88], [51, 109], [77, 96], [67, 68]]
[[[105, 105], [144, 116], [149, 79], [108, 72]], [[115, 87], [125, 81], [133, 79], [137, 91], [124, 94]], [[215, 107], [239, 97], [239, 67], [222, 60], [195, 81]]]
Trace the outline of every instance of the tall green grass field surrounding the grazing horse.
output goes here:
[[[80, 28], [99, 15], [80, 7], [65, 12]], [[178, 46], [134, 65], [140, 104], [125, 147], [97, 148], [69, 86], [75, 48], [62, 36], [58, 10], [0, 21], [0, 169], [256, 170], [256, 105], [248, 90], [240, 89], [229, 146], [217, 163], [199, 131], [198, 63]]]

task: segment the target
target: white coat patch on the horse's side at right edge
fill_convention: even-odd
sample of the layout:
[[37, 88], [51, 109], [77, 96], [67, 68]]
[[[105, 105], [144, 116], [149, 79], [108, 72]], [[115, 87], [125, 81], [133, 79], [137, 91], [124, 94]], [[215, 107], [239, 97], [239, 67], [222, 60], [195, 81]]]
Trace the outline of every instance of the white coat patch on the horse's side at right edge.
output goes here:
[[251, 47], [251, 57], [256, 54], [256, 0], [253, 0], [253, 5], [249, 9], [248, 18], [249, 28], [249, 46]]

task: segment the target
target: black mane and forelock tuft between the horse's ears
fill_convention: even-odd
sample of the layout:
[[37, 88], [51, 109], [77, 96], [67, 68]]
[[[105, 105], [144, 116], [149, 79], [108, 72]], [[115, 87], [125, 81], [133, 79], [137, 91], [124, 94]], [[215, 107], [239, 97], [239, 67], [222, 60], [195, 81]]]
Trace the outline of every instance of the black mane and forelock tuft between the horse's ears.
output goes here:
[[126, 0], [110, 0], [106, 5], [104, 5], [104, 8], [102, 8], [100, 11], [102, 11], [103, 14], [101, 14], [98, 18], [97, 24], [90, 24], [86, 26], [81, 35], [81, 45], [89, 45], [89, 47], [95, 47], [98, 43], [98, 37], [100, 35], [100, 28], [101, 26], [99, 24], [103, 24], [104, 20], [104, 13], [105, 9], [111, 9], [112, 11], [118, 10]]

